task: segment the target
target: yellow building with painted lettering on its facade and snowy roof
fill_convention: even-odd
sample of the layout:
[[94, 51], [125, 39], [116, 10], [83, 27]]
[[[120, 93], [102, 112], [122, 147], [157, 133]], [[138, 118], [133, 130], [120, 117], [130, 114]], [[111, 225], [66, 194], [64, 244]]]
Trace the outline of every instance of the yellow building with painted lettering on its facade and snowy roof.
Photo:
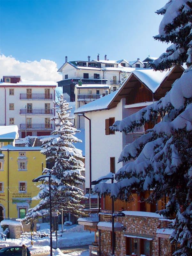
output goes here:
[[23, 218], [28, 209], [37, 204], [37, 201], [31, 201], [39, 191], [32, 180], [41, 175], [42, 168], [46, 166], [40, 147], [14, 146], [14, 141], [18, 138], [17, 126], [8, 126], [9, 129], [4, 134], [1, 127], [0, 221]]

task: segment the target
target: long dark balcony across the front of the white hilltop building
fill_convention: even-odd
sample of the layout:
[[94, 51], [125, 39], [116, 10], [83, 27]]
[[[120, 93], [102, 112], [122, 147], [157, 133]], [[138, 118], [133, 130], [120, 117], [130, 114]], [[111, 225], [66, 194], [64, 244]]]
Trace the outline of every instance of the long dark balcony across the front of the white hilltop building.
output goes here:
[[106, 82], [108, 81], [107, 79], [70, 78], [59, 81], [58, 86], [62, 87], [64, 85], [78, 84], [80, 79], [82, 84], [106, 84]]

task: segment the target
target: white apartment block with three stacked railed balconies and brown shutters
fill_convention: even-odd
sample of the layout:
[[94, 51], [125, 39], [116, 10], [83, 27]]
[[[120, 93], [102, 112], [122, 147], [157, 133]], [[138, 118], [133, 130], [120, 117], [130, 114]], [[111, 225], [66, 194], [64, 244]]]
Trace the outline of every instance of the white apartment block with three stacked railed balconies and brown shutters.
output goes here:
[[17, 81], [4, 76], [0, 82], [2, 113], [0, 125], [17, 125], [19, 136], [50, 135], [54, 129], [50, 118], [54, 116], [53, 100], [57, 84], [49, 81]]

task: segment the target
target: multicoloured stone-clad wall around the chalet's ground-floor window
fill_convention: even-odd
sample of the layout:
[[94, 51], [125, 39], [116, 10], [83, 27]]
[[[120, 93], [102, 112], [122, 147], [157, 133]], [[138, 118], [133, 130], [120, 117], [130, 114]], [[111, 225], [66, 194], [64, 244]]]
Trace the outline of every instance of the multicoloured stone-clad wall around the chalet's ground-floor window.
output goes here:
[[[104, 221], [104, 216], [100, 215], [100, 221]], [[128, 233], [137, 236], [149, 236], [153, 237], [152, 240], [152, 256], [165, 256], [171, 255], [171, 245], [168, 238], [157, 237], [156, 229], [161, 226], [165, 226], [165, 221], [160, 221], [154, 217], [143, 216], [129, 216], [117, 217], [115, 221], [122, 223], [126, 229], [116, 232], [116, 248], [115, 255], [125, 256], [125, 236]], [[100, 230], [100, 251], [102, 256], [110, 256], [112, 253], [111, 247], [111, 232], [107, 230]], [[160, 248], [159, 248], [160, 247]], [[91, 255], [91, 254], [90, 254]], [[138, 255], [140, 256], [140, 255]]]

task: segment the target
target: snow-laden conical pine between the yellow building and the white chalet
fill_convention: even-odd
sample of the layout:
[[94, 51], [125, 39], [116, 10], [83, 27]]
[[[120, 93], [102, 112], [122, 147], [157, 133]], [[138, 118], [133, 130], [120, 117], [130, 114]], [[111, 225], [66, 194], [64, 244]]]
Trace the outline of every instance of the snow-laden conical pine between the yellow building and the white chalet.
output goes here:
[[[83, 190], [80, 186], [84, 182], [81, 172], [84, 171], [83, 156], [80, 149], [75, 148], [74, 143], [82, 142], [74, 135], [79, 132], [70, 122], [74, 117], [70, 117], [70, 108], [63, 95], [55, 103], [57, 116], [52, 120], [55, 130], [52, 135], [46, 136], [41, 141], [41, 153], [46, 155], [46, 161], [54, 164], [52, 169], [44, 168], [43, 174], [51, 173], [51, 200], [52, 210], [63, 209], [75, 216], [82, 214], [84, 199]], [[33, 218], [49, 215], [49, 178], [44, 178], [44, 182], [37, 187], [40, 189], [37, 196], [32, 200], [40, 199], [39, 204], [29, 209], [26, 215], [27, 222]]]

